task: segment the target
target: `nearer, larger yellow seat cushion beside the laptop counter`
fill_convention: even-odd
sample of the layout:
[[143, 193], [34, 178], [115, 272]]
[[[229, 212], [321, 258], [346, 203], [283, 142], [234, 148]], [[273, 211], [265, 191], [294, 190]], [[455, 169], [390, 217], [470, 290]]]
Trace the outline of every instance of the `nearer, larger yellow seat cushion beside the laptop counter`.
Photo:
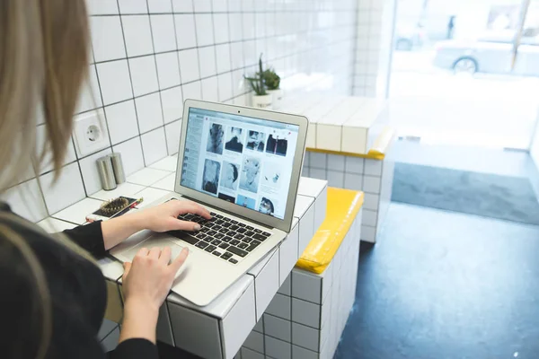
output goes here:
[[363, 199], [363, 192], [328, 188], [326, 217], [297, 261], [296, 267], [320, 274], [330, 265], [363, 206]]

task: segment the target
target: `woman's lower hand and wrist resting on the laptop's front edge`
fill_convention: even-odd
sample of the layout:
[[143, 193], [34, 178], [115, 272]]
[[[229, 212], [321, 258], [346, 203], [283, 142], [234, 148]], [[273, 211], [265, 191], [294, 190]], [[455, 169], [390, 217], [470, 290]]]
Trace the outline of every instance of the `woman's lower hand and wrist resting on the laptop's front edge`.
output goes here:
[[159, 307], [170, 292], [174, 276], [181, 268], [189, 250], [181, 250], [171, 264], [171, 249], [138, 250], [133, 262], [124, 263], [124, 321], [119, 341], [143, 337], [155, 343], [155, 328]]

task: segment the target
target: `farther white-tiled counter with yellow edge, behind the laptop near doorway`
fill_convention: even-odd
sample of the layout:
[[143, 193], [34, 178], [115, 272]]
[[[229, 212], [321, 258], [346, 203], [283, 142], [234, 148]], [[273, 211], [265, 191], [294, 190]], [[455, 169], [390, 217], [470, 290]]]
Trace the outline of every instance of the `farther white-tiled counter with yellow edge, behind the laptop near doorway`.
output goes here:
[[302, 94], [287, 98], [278, 110], [310, 120], [305, 177], [365, 192], [361, 241], [376, 242], [393, 187], [394, 131], [387, 126], [386, 101]]

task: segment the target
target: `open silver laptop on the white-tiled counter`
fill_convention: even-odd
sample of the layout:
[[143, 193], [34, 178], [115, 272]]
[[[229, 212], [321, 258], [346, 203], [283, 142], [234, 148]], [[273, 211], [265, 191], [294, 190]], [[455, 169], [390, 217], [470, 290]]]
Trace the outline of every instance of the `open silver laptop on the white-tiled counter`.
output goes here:
[[185, 101], [183, 118], [174, 192], [158, 203], [195, 201], [212, 219], [181, 215], [201, 231], [155, 233], [111, 254], [130, 261], [143, 246], [170, 246], [175, 258], [188, 248], [172, 291], [204, 306], [290, 232], [308, 120], [193, 100]]

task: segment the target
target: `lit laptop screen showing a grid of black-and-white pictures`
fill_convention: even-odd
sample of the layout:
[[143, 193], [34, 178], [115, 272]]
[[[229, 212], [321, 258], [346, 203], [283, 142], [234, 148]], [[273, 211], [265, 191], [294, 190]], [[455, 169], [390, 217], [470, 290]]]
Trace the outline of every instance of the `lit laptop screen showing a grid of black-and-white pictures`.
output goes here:
[[284, 219], [299, 127], [190, 108], [181, 186]]

